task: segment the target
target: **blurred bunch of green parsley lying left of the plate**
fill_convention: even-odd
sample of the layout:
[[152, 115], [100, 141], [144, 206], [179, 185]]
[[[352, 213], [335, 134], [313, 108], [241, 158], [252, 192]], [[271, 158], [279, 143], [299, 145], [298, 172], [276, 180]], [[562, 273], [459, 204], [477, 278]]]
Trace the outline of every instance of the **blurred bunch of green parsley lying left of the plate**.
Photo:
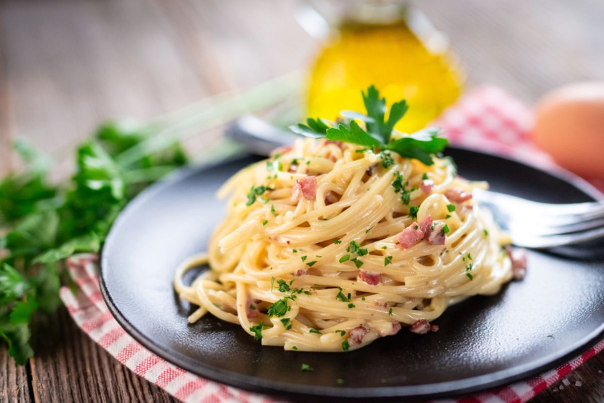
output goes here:
[[77, 148], [76, 173], [60, 184], [48, 179], [46, 156], [15, 144], [25, 169], [0, 181], [0, 335], [18, 364], [33, 356], [34, 312], [59, 306], [60, 285], [69, 281], [63, 259], [98, 252], [124, 205], [187, 161], [174, 141], [146, 151], [141, 145], [153, 132], [142, 124], [102, 124]]

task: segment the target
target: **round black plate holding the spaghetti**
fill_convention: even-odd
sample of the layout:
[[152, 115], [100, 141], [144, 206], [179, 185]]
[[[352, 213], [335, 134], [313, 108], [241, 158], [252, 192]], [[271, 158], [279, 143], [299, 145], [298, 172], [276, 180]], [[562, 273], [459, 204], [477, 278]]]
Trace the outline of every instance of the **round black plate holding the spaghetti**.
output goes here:
[[[584, 182], [504, 158], [449, 149], [461, 175], [544, 202], [591, 201]], [[257, 157], [172, 176], [138, 196], [105, 243], [101, 289], [125, 329], [168, 361], [206, 378], [291, 399], [434, 398], [501, 385], [551, 368], [595, 344], [604, 329], [604, 259], [531, 251], [524, 281], [448, 309], [437, 333], [401, 331], [350, 353], [262, 347], [238, 325], [190, 306], [172, 290], [176, 265], [204, 251], [224, 204], [214, 192]], [[301, 372], [301, 364], [314, 372]], [[338, 385], [336, 379], [344, 379]]]

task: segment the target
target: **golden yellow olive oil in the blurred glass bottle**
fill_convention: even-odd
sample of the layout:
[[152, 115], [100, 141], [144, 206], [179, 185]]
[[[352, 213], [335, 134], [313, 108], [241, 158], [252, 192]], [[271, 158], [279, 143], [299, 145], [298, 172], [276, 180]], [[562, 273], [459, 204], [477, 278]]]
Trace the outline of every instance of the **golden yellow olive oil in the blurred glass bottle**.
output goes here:
[[308, 115], [335, 120], [341, 109], [363, 111], [359, 93], [371, 84], [387, 100], [406, 99], [410, 109], [396, 129], [413, 132], [457, 99], [462, 78], [448, 52], [429, 50], [407, 18], [343, 22], [310, 70]]

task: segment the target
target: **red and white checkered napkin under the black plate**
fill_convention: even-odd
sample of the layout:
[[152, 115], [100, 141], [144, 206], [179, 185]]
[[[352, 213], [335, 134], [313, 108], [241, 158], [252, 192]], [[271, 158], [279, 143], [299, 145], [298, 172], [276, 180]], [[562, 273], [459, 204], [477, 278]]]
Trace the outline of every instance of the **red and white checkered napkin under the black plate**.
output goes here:
[[[556, 169], [550, 158], [530, 143], [527, 135], [532, 124], [530, 109], [499, 88], [484, 86], [475, 89], [445, 111], [435, 124], [445, 129], [454, 144], [488, 150]], [[184, 402], [276, 402], [272, 398], [243, 392], [186, 372], [133, 340], [115, 321], [103, 301], [96, 274], [97, 256], [72, 256], [67, 260], [67, 268], [79, 289], [75, 294], [66, 287], [60, 291], [69, 314], [92, 340], [137, 375]], [[564, 378], [602, 349], [604, 341], [567, 364], [535, 378], [479, 395], [446, 399], [438, 403], [522, 403]]]

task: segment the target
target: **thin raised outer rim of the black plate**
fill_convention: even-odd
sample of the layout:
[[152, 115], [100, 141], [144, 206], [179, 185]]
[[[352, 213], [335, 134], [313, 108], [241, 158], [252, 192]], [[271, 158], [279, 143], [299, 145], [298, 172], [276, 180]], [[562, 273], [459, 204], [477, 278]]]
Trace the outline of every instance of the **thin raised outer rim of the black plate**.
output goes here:
[[[489, 157], [501, 158], [503, 160], [513, 161], [523, 166], [530, 167], [538, 170], [545, 175], [553, 176], [554, 178], [561, 179], [562, 181], [568, 182], [585, 195], [590, 196], [595, 200], [604, 200], [604, 195], [599, 192], [593, 185], [580, 178], [574, 173], [569, 172], [561, 167], [555, 167], [554, 170], [547, 170], [543, 166], [538, 164], [532, 164], [527, 161], [519, 160], [513, 156], [498, 155], [496, 153], [485, 152], [484, 150], [474, 149], [466, 146], [449, 146], [447, 149], [461, 150], [464, 152], [480, 153]], [[446, 153], [446, 151], [445, 151]], [[597, 343], [604, 340], [604, 323], [596, 327], [592, 332], [575, 343], [571, 344], [563, 350], [559, 350], [557, 353], [550, 354], [526, 363], [522, 366], [514, 366], [509, 369], [499, 370], [484, 375], [474, 376], [472, 378], [462, 379], [460, 381], [446, 381], [438, 382], [434, 384], [425, 385], [404, 385], [404, 386], [390, 386], [384, 385], [379, 387], [364, 387], [364, 388], [348, 388], [345, 386], [313, 386], [313, 385], [298, 385], [289, 384], [288, 382], [280, 382], [275, 380], [268, 380], [262, 378], [256, 378], [250, 375], [242, 375], [237, 372], [218, 369], [211, 365], [205, 364], [203, 361], [196, 361], [191, 357], [188, 357], [182, 353], [176, 352], [170, 353], [167, 350], [162, 349], [161, 346], [156, 344], [150, 338], [147, 338], [143, 332], [134, 327], [122, 314], [120, 309], [115, 305], [114, 300], [106, 286], [104, 279], [104, 262], [106, 261], [106, 255], [111, 248], [112, 234], [117, 231], [120, 227], [121, 222], [127, 216], [129, 210], [133, 210], [137, 205], [142, 204], [146, 199], [150, 198], [155, 193], [161, 192], [165, 187], [169, 186], [173, 182], [181, 181], [190, 175], [195, 175], [201, 170], [211, 169], [214, 166], [219, 166], [230, 161], [240, 160], [251, 156], [248, 153], [240, 153], [237, 155], [229, 156], [217, 161], [211, 161], [208, 163], [199, 164], [196, 166], [184, 167], [171, 173], [161, 181], [154, 185], [151, 185], [147, 189], [143, 190], [137, 195], [132, 201], [130, 201], [123, 211], [120, 212], [118, 218], [109, 231], [106, 241], [103, 245], [103, 250], [100, 254], [100, 262], [98, 265], [98, 283], [100, 286], [101, 295], [103, 300], [108, 306], [109, 312], [115, 320], [126, 330], [134, 340], [143, 345], [146, 349], [149, 349], [152, 353], [164, 358], [166, 361], [175, 364], [182, 369], [185, 369], [191, 373], [199, 375], [203, 378], [210, 379], [212, 381], [220, 382], [222, 384], [231, 385], [233, 387], [241, 388], [256, 393], [263, 393], [265, 395], [289, 395], [292, 397], [306, 397], [306, 398], [357, 398], [357, 399], [414, 399], [414, 398], [442, 398], [445, 396], [459, 396], [466, 393], [480, 392], [487, 390], [492, 387], [504, 386], [521, 379], [527, 379], [530, 376], [542, 373], [545, 370], [553, 369], [559, 364], [565, 363], [568, 359], [574, 358], [580, 352], [586, 349], [591, 349]], [[354, 353], [354, 352], [353, 352]], [[194, 361], [194, 362], [193, 362]], [[292, 394], [296, 396], [291, 396]]]

